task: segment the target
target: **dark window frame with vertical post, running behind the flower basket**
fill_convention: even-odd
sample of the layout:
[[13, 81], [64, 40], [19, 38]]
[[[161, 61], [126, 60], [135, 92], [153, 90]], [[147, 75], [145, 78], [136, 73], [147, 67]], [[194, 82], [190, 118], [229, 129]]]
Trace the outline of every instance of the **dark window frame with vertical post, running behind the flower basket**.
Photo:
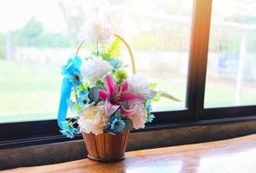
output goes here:
[[[143, 130], [131, 131], [132, 133], [188, 125], [256, 120], [256, 106], [204, 108], [211, 10], [212, 0], [194, 0], [187, 74], [187, 108], [154, 112], [153, 123]], [[74, 139], [63, 137], [59, 132], [56, 119], [0, 124], [0, 149], [81, 138], [81, 135], [77, 135]]]

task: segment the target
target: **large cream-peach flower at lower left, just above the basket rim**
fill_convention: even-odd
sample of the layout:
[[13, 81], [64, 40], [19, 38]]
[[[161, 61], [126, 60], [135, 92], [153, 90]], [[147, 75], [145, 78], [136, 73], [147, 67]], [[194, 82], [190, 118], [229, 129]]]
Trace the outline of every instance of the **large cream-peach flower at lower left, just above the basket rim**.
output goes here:
[[102, 134], [108, 125], [108, 117], [104, 106], [89, 106], [81, 112], [77, 121], [81, 131], [85, 133]]

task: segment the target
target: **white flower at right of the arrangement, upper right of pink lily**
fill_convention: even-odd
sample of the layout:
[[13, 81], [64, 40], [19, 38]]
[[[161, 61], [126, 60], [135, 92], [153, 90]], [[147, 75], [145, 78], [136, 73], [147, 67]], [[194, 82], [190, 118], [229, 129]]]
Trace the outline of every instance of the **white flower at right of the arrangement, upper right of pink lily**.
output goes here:
[[139, 94], [144, 99], [153, 99], [156, 92], [150, 89], [146, 78], [133, 75], [128, 78], [128, 91]]

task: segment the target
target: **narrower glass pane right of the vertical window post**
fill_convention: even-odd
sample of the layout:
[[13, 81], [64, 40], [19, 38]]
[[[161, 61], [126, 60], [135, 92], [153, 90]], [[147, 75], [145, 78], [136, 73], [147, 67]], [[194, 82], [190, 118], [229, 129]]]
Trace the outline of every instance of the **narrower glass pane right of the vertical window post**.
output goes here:
[[253, 0], [213, 1], [205, 107], [256, 104], [255, 7]]

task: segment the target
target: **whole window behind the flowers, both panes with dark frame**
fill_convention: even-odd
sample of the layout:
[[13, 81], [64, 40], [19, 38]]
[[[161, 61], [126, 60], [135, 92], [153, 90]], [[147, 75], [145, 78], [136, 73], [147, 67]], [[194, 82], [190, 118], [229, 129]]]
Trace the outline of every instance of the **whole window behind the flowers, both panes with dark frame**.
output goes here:
[[56, 125], [59, 69], [92, 16], [106, 16], [128, 40], [138, 74], [181, 99], [155, 104], [156, 118], [145, 131], [255, 119], [253, 5], [252, 0], [4, 1], [0, 148], [68, 140]]

